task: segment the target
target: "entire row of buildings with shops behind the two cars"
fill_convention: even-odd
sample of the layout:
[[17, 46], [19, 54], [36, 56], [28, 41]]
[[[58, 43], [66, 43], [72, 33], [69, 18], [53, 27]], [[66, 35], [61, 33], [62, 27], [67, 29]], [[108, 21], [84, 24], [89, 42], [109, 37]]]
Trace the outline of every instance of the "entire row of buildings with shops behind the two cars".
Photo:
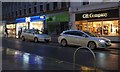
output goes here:
[[76, 29], [119, 41], [120, 3], [112, 1], [3, 2], [2, 17], [9, 34], [14, 36], [20, 28], [44, 29], [48, 34]]

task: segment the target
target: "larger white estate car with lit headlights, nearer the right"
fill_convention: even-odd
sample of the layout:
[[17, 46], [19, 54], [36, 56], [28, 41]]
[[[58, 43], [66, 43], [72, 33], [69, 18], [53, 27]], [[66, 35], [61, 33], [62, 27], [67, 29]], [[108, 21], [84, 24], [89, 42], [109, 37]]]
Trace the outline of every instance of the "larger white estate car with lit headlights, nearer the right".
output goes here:
[[77, 45], [91, 49], [107, 48], [111, 46], [111, 41], [104, 37], [98, 37], [88, 31], [66, 30], [58, 37], [58, 43], [62, 46]]

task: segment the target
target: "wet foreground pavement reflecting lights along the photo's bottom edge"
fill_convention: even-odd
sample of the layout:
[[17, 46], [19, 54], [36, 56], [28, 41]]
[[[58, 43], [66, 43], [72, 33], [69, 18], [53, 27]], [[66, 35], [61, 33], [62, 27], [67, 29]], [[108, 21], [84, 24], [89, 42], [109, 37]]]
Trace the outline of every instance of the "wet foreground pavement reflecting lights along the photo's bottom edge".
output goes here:
[[[2, 70], [73, 70], [73, 64], [58, 59], [42, 57], [19, 50], [4, 48]], [[94, 68], [75, 66], [77, 71], [90, 71]], [[102, 70], [96, 70], [103, 72]]]

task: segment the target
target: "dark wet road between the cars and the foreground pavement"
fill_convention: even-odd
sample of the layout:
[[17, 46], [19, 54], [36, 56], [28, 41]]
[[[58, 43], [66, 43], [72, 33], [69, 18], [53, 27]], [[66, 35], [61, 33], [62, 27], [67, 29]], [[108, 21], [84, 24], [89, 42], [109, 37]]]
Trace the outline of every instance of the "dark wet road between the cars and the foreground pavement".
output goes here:
[[[73, 62], [73, 54], [76, 46], [61, 47], [57, 43], [34, 43], [18, 39], [3, 38], [4, 48], [12, 48], [23, 52], [36, 54], [43, 57], [51, 57], [61, 61]], [[115, 44], [114, 44], [115, 45]], [[117, 44], [119, 45], [119, 44]], [[120, 50], [117, 49], [96, 49], [96, 66], [102, 70], [119, 70]], [[87, 50], [80, 50], [76, 56], [76, 64], [83, 66], [94, 66], [93, 56]]]

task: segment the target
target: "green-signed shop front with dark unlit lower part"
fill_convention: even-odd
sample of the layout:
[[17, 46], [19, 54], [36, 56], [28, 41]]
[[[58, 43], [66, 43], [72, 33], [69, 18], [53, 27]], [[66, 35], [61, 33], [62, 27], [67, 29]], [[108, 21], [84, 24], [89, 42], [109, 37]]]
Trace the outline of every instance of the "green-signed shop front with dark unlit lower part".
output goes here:
[[60, 34], [62, 31], [69, 29], [69, 13], [48, 14], [46, 24], [49, 34]]

